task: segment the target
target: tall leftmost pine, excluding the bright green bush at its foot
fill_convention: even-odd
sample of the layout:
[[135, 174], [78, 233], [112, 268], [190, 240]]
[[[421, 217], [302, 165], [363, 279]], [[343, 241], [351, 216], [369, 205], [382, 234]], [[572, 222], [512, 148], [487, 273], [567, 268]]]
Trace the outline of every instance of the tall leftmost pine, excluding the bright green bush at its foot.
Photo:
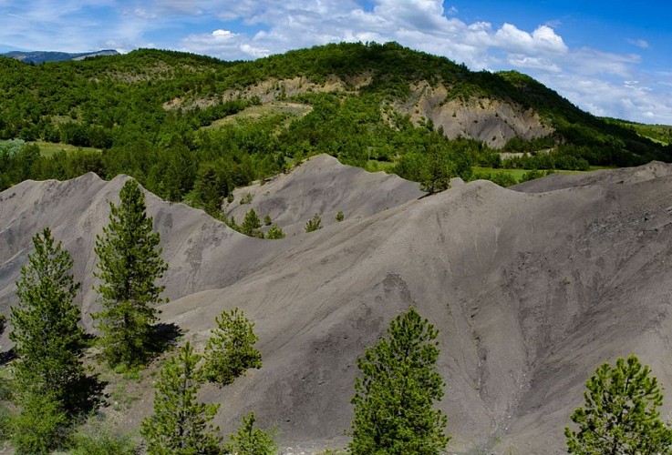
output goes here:
[[79, 283], [69, 273], [73, 260], [45, 228], [33, 238], [35, 252], [16, 282], [18, 305], [12, 308], [12, 332], [18, 360], [15, 389], [19, 404], [32, 395], [55, 399], [60, 411], [74, 410], [78, 383], [84, 378], [79, 356], [85, 347], [73, 304]]

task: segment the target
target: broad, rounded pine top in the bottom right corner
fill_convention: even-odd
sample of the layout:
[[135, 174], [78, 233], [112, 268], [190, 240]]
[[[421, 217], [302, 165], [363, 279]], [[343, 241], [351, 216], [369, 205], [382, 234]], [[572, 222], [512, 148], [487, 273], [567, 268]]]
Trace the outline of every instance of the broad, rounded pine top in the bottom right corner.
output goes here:
[[585, 404], [564, 429], [570, 453], [669, 453], [672, 430], [659, 418], [663, 393], [636, 356], [605, 363], [585, 384]]

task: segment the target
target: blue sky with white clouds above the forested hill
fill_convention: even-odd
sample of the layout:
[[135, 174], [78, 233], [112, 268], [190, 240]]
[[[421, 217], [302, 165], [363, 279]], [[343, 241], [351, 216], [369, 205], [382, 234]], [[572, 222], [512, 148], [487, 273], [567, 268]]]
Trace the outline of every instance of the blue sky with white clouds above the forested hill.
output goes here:
[[672, 125], [668, 0], [0, 0], [0, 51], [159, 47], [253, 59], [397, 41], [515, 69], [598, 116]]

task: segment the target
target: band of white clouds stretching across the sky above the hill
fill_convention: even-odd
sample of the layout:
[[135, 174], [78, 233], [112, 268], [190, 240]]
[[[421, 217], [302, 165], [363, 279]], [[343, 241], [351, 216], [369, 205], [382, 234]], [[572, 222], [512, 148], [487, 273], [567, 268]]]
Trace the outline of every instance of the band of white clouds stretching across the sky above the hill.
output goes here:
[[[663, 82], [672, 77], [642, 76], [641, 56], [567, 45], [559, 21], [531, 30], [467, 23], [441, 0], [0, 0], [0, 6], [5, 16], [21, 18], [0, 27], [0, 44], [26, 49], [159, 46], [233, 60], [330, 42], [397, 41], [474, 70], [522, 70], [598, 115], [615, 109], [614, 116], [643, 120], [653, 112], [672, 123]], [[628, 42], [649, 46], [641, 38]]]

